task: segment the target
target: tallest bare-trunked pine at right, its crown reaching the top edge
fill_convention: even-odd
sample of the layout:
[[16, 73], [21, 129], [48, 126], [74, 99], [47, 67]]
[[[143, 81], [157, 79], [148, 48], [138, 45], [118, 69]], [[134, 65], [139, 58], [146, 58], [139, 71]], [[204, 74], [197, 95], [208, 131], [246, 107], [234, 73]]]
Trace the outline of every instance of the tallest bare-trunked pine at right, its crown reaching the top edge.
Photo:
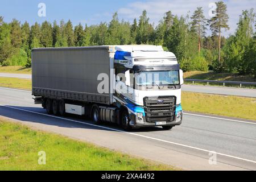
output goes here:
[[223, 1], [216, 2], [216, 6], [216, 15], [209, 20], [209, 23], [213, 35], [218, 34], [218, 63], [221, 64], [221, 29], [229, 30], [229, 16], [226, 13], [226, 5]]

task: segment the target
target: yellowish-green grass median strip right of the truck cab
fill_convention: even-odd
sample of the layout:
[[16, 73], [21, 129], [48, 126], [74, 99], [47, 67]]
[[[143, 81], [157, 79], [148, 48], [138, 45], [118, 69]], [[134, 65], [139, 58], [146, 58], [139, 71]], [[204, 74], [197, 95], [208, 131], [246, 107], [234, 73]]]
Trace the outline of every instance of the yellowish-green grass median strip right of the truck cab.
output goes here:
[[256, 121], [256, 98], [183, 92], [182, 106], [185, 111], [196, 111]]

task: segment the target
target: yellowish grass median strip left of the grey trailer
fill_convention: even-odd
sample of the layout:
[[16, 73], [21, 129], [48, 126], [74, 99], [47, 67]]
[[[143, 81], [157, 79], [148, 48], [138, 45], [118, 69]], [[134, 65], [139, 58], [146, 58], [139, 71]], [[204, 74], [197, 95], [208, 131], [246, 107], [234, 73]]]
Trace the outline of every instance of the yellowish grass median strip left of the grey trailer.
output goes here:
[[7, 87], [7, 88], [31, 90], [32, 82], [31, 80], [23, 79], [23, 78], [0, 77], [0, 86]]

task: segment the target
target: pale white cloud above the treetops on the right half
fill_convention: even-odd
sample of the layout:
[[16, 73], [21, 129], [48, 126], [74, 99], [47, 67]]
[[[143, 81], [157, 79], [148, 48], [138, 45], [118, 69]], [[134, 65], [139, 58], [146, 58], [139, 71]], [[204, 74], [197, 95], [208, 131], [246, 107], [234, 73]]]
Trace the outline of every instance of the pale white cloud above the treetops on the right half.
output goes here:
[[[159, 20], [163, 18], [165, 12], [171, 10], [175, 15], [189, 16], [192, 15], [196, 7], [203, 7], [205, 17], [209, 17], [209, 4], [214, 3], [214, 0], [148, 0], [146, 2], [137, 1], [130, 3], [126, 7], [122, 7], [118, 10], [118, 14], [130, 21], [134, 18], [138, 18], [143, 10], [147, 10], [148, 16], [150, 17], [150, 22], [158, 24]], [[249, 10], [251, 8], [256, 8], [255, 0], [226, 0], [226, 5], [228, 6], [229, 14], [229, 26], [230, 30], [224, 32], [225, 36], [233, 34], [236, 31], [237, 22], [239, 15], [241, 15], [242, 10]], [[189, 12], [191, 11], [191, 12]]]

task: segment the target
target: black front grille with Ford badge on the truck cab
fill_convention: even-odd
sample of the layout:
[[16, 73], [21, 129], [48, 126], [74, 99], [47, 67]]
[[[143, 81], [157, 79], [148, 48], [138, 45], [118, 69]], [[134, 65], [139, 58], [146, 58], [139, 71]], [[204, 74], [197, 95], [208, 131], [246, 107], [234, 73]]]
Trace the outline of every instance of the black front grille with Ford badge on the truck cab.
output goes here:
[[172, 122], [175, 120], [176, 97], [145, 97], [144, 109], [147, 122]]

